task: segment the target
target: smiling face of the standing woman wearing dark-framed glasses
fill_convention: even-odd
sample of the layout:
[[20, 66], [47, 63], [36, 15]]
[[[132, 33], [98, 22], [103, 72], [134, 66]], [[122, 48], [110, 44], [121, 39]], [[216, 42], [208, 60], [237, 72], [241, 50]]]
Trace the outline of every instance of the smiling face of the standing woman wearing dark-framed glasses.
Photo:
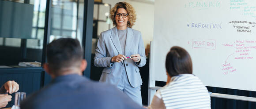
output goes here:
[[127, 14], [127, 11], [124, 8], [119, 8], [116, 13], [117, 26], [121, 28], [127, 28], [128, 16], [126, 16], [126, 18], [123, 18], [124, 15], [117, 17], [117, 14]]

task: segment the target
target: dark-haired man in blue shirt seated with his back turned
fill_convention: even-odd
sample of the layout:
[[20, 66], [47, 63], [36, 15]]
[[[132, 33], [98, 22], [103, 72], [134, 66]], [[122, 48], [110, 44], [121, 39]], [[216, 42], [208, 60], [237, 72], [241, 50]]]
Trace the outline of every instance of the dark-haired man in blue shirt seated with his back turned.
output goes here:
[[142, 109], [115, 86], [83, 77], [87, 62], [78, 40], [61, 38], [46, 47], [43, 67], [52, 82], [32, 94], [21, 109]]

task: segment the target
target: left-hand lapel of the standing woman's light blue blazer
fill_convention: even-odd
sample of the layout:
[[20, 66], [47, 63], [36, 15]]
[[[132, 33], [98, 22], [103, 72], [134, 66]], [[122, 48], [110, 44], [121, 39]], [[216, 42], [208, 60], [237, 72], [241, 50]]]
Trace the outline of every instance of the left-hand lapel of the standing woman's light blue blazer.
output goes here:
[[118, 53], [122, 54], [122, 49], [121, 49], [120, 41], [119, 41], [119, 38], [118, 38], [118, 35], [117, 35], [117, 27], [114, 27], [112, 29], [110, 38], [111, 38], [113, 44], [115, 45]]

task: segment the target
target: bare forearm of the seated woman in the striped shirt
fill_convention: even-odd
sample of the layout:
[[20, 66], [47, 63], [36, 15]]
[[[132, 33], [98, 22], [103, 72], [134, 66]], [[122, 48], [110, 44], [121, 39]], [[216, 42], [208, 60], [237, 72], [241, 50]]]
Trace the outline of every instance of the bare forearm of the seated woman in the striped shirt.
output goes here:
[[151, 104], [148, 106], [148, 109], [166, 109], [166, 106], [162, 100], [162, 97], [159, 91], [155, 93]]

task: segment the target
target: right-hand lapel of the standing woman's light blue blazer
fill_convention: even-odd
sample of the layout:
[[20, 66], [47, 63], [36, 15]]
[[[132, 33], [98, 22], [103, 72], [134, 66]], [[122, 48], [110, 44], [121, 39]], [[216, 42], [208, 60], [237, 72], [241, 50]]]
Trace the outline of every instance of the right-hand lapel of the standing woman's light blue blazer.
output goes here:
[[133, 42], [133, 31], [131, 28], [127, 27], [127, 36], [126, 36], [126, 42], [125, 42], [125, 50], [124, 50], [124, 55], [127, 56], [128, 51], [130, 50]]

